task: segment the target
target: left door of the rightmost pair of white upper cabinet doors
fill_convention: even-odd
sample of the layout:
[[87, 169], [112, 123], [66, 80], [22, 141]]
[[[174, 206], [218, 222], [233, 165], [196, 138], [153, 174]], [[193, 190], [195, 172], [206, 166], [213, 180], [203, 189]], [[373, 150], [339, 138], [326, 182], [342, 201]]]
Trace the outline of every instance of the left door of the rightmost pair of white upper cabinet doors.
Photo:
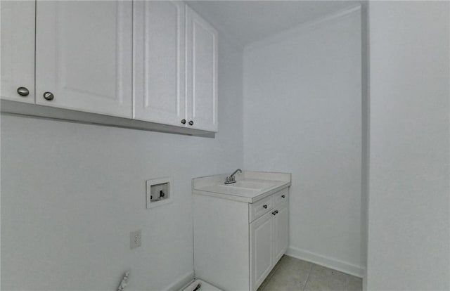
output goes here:
[[134, 1], [134, 119], [184, 127], [181, 1]]

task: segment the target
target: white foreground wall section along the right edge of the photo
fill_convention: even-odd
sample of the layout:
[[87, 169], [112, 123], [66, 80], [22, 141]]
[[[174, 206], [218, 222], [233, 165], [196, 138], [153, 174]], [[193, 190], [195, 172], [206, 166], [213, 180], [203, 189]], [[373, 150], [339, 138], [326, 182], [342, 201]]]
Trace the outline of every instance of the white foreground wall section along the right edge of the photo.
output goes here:
[[449, 5], [369, 5], [367, 290], [450, 289]]

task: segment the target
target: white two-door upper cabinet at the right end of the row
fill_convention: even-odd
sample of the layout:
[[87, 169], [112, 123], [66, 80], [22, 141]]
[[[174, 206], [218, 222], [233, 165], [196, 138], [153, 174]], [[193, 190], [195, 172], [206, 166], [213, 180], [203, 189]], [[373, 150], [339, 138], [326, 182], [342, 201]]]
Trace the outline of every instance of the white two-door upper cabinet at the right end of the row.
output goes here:
[[134, 118], [217, 131], [217, 32], [182, 1], [134, 1]]

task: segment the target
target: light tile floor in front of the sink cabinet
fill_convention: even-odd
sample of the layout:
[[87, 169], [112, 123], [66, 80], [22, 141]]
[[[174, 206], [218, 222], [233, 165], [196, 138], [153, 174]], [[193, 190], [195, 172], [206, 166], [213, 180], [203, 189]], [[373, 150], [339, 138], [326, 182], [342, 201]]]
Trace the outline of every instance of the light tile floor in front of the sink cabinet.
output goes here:
[[284, 255], [257, 291], [361, 291], [361, 278]]

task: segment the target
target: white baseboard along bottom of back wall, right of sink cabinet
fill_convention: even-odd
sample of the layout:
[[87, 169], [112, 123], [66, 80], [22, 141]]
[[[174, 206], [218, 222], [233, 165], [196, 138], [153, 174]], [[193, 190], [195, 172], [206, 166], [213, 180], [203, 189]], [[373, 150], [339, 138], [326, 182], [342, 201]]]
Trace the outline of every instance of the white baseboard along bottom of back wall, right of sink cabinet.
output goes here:
[[308, 252], [307, 250], [297, 249], [296, 247], [288, 247], [288, 252], [286, 252], [286, 254], [290, 257], [310, 261], [311, 263], [326, 266], [330, 269], [335, 269], [359, 278], [363, 278], [364, 276], [363, 267], [350, 264], [347, 261], [340, 261], [338, 259], [325, 257], [321, 254], [315, 254], [314, 252]]

